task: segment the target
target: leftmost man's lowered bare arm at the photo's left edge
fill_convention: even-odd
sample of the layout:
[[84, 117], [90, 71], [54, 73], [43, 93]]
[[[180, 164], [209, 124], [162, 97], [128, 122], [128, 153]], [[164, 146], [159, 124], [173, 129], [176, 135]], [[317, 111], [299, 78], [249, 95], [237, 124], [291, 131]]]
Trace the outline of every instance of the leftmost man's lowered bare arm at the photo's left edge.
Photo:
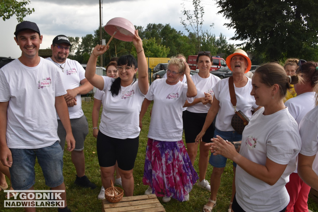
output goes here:
[[0, 102], [0, 159], [3, 166], [12, 166], [12, 154], [7, 146], [7, 109], [9, 101]]

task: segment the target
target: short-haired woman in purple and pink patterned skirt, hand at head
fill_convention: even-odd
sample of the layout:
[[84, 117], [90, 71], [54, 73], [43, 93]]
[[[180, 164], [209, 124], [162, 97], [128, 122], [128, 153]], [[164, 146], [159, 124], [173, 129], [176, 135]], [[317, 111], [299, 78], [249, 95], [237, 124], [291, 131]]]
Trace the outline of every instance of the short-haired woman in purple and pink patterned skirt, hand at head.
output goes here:
[[[188, 84], [180, 81], [183, 75]], [[162, 196], [163, 202], [171, 197], [188, 201], [198, 179], [182, 140], [182, 108], [186, 99], [191, 102], [196, 95], [188, 64], [173, 57], [168, 63], [167, 79], [155, 80], [142, 103], [140, 123], [154, 101], [142, 181], [149, 186], [146, 192]]]

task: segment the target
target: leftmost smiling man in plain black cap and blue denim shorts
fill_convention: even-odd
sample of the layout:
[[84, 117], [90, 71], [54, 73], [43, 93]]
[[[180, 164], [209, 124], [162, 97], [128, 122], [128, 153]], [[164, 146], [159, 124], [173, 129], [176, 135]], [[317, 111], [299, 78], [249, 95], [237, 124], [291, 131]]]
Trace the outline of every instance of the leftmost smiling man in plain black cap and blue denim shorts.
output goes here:
[[67, 150], [72, 151], [75, 139], [64, 99], [66, 88], [57, 74], [59, 68], [38, 56], [43, 36], [37, 24], [23, 21], [14, 34], [21, 57], [0, 69], [0, 160], [10, 170], [12, 188], [28, 192], [34, 190], [37, 158], [46, 186], [59, 190], [64, 202], [56, 204], [58, 211], [69, 212], [66, 192], [61, 192], [66, 187], [56, 121], [57, 112], [66, 129]]

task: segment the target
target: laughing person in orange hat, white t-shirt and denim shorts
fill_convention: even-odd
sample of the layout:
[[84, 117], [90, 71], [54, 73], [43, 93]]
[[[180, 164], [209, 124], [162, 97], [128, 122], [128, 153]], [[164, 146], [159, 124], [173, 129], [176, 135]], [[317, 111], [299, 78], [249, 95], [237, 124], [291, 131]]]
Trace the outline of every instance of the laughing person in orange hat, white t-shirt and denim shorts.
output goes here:
[[[251, 60], [248, 58], [245, 51], [237, 49], [233, 54], [226, 58], [226, 64], [232, 71], [234, 90], [237, 99], [236, 110], [241, 110], [245, 116], [250, 119], [252, 117], [252, 110], [255, 109], [256, 111], [259, 109], [259, 106], [255, 104], [255, 99], [250, 94], [252, 90], [251, 79], [244, 75], [244, 73], [251, 69]], [[196, 137], [196, 142], [202, 141], [204, 134], [208, 131], [208, 128], [216, 116], [213, 138], [220, 136], [225, 140], [233, 142], [237, 151], [239, 151], [242, 135], [237, 133], [231, 125], [231, 120], [235, 112], [231, 103], [229, 79], [230, 78], [225, 78], [220, 80], [212, 88], [214, 92], [212, 105], [207, 113], [202, 130]], [[227, 158], [222, 155], [211, 154], [210, 156], [209, 163], [213, 166], [210, 179], [211, 196], [209, 198], [209, 202], [204, 205], [203, 209], [205, 212], [211, 212], [216, 206], [218, 188], [221, 183], [221, 175], [225, 169], [226, 160]], [[231, 211], [232, 201], [235, 194], [235, 170], [236, 163], [233, 162], [234, 177], [232, 181], [232, 197], [229, 203], [229, 212]]]

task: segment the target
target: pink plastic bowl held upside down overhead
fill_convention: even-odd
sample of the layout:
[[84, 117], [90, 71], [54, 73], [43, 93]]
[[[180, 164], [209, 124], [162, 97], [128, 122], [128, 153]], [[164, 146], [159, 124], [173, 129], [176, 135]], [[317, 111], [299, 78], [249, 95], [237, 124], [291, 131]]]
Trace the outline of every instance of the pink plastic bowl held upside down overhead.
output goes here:
[[114, 38], [122, 41], [133, 41], [135, 35], [135, 26], [126, 18], [121, 17], [110, 19], [104, 29], [109, 35], [113, 35], [117, 31]]

